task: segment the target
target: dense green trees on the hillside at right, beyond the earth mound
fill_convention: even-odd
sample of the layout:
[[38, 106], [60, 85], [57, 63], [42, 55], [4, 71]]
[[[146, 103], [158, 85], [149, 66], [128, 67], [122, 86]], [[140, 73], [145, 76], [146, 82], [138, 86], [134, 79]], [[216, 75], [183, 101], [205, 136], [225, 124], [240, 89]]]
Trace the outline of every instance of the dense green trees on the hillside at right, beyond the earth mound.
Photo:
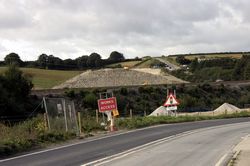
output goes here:
[[183, 69], [173, 71], [172, 74], [190, 82], [250, 80], [250, 55], [244, 54], [241, 59], [216, 58], [199, 61], [195, 58], [189, 64], [188, 71]]

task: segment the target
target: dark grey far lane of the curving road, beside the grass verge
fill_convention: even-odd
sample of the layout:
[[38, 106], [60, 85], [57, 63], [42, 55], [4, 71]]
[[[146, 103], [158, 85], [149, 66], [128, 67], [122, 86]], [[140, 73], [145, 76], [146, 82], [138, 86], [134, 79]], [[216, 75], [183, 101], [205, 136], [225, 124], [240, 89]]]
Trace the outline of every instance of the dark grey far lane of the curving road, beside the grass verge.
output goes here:
[[[173, 136], [190, 130], [224, 124], [248, 122], [250, 118], [210, 120], [160, 125], [104, 138], [84, 140], [60, 148], [0, 160], [1, 166], [47, 166], [82, 165], [94, 160], [111, 156], [149, 142]], [[211, 137], [214, 140], [215, 137]], [[198, 138], [196, 138], [198, 140]], [[201, 142], [201, 141], [199, 141]], [[179, 149], [185, 150], [185, 149]]]

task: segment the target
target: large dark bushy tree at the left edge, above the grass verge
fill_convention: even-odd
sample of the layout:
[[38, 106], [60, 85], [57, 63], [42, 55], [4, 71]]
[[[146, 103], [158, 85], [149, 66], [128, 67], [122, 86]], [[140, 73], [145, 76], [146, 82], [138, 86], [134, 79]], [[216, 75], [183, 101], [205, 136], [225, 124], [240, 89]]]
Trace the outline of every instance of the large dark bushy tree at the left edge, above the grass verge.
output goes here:
[[10, 65], [0, 75], [0, 117], [26, 114], [30, 110], [29, 93], [32, 87], [31, 78], [16, 65]]

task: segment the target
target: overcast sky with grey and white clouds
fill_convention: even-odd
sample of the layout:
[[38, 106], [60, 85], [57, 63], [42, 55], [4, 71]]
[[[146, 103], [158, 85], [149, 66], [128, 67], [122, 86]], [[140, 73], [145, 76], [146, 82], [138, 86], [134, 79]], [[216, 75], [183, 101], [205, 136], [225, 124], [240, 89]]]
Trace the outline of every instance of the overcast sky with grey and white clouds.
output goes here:
[[0, 0], [0, 60], [250, 51], [249, 0]]

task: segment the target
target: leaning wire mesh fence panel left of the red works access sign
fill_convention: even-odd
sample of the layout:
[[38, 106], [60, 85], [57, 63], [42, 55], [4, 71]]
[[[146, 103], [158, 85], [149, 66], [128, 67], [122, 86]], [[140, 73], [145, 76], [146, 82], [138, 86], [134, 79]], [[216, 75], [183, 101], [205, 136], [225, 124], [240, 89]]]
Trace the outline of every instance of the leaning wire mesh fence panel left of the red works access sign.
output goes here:
[[43, 101], [49, 130], [75, 133], [79, 131], [73, 101], [64, 98], [43, 98]]

